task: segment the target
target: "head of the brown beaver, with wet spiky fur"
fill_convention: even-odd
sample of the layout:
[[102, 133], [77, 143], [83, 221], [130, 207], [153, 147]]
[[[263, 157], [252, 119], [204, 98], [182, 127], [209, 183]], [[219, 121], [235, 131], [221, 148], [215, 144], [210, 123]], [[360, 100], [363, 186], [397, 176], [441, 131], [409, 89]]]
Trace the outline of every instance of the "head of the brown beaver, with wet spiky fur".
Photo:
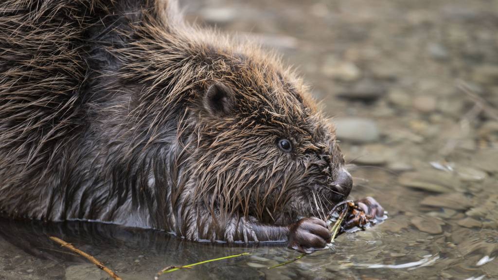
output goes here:
[[195, 200], [270, 223], [325, 218], [352, 188], [334, 127], [298, 78], [253, 56], [210, 62], [193, 120]]

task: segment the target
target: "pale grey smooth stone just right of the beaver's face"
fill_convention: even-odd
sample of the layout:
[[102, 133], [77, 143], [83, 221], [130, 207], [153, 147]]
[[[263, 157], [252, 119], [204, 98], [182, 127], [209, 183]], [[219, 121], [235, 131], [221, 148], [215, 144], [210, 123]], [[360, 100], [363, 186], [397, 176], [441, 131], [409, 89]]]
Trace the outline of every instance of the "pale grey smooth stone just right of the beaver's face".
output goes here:
[[375, 142], [380, 138], [377, 124], [363, 118], [341, 118], [334, 120], [336, 136], [339, 140], [353, 142]]

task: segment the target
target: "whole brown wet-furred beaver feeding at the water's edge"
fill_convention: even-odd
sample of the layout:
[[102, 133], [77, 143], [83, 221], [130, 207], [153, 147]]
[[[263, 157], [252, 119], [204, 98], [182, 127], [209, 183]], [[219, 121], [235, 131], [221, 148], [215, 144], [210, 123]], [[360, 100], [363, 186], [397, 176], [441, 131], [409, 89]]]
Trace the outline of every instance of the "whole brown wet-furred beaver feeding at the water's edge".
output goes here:
[[4, 0], [0, 34], [3, 215], [327, 243], [352, 177], [274, 53], [185, 23], [173, 0]]

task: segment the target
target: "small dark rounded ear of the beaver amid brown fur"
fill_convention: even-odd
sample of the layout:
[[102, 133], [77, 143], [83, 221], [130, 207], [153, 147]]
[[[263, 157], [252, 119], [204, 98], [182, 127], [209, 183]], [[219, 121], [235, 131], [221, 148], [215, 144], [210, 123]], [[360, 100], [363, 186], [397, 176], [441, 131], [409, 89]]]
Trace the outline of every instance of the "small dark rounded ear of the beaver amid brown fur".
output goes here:
[[212, 84], [204, 96], [204, 107], [215, 116], [228, 115], [234, 107], [233, 91], [222, 83]]

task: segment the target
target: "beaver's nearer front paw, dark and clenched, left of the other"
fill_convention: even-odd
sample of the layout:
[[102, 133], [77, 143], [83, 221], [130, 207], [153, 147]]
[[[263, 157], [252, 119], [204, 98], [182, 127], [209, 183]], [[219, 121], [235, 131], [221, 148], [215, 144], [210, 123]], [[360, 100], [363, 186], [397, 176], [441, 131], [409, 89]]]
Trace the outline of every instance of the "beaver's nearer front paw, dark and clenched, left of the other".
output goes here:
[[330, 239], [327, 223], [318, 218], [303, 218], [289, 225], [289, 248], [299, 252], [324, 248]]

